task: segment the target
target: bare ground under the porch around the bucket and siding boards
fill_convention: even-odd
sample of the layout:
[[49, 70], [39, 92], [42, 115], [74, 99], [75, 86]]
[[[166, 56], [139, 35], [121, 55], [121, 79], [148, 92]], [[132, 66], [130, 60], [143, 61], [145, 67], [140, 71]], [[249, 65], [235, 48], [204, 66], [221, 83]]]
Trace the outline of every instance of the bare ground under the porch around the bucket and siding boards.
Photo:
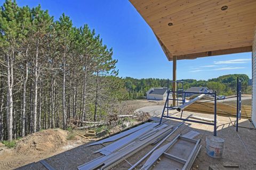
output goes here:
[[[191, 112], [183, 112], [184, 117], [186, 115], [193, 114], [194, 116], [201, 116], [205, 118], [212, 118], [213, 115], [205, 115], [205, 114], [195, 114]], [[173, 116], [179, 117], [178, 112], [173, 112]], [[159, 119], [159, 118], [157, 118]], [[176, 120], [168, 120], [166, 122], [170, 125], [177, 125], [180, 122]], [[179, 133], [185, 134], [192, 129], [200, 133], [196, 139], [201, 139], [202, 148], [198, 154], [198, 157], [193, 164], [193, 170], [196, 169], [208, 169], [209, 165], [214, 164], [236, 164], [239, 165], [239, 168], [234, 169], [255, 169], [256, 167], [256, 130], [253, 128], [252, 124], [249, 120], [241, 119], [239, 122], [239, 126], [243, 126], [239, 128], [238, 133], [235, 131], [235, 118], [229, 117], [221, 117], [218, 116], [218, 128], [217, 135], [222, 137], [225, 140], [225, 148], [223, 152], [223, 158], [214, 159], [206, 155], [206, 143], [205, 137], [213, 135], [213, 126], [198, 124], [198, 123], [186, 123], [183, 124], [174, 134], [170, 136], [167, 141], [163, 143], [166, 144], [174, 139]], [[238, 135], [241, 137], [239, 139]], [[244, 145], [243, 145], [243, 143]], [[107, 143], [110, 144], [111, 142]], [[107, 145], [105, 144], [105, 145]], [[101, 155], [99, 153], [93, 153], [95, 150], [102, 148], [103, 145], [94, 145], [91, 147], [85, 147], [85, 144], [80, 145], [79, 147], [73, 148], [71, 150], [59, 153], [58, 155], [49, 157], [45, 159], [47, 163], [49, 163], [55, 169], [76, 169], [77, 166], [82, 165], [88, 161], [91, 161]], [[138, 151], [135, 155], [127, 158], [126, 160], [130, 164], [135, 164], [141, 157], [143, 157], [150, 149], [152, 149], [154, 145], [148, 145], [146, 148]], [[116, 165], [112, 169], [124, 170], [130, 167], [129, 163], [123, 161], [122, 163]], [[145, 163], [145, 161], [143, 162]], [[137, 168], [141, 167], [140, 164]], [[44, 169], [42, 164], [33, 163], [27, 166], [23, 166], [19, 169]], [[230, 169], [230, 168], [229, 168]]]

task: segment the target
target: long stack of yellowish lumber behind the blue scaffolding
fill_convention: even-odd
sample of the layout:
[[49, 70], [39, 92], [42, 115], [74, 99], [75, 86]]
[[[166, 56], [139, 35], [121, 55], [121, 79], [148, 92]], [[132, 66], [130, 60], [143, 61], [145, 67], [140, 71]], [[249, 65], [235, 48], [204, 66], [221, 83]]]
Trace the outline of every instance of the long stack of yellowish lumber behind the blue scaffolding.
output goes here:
[[[214, 103], [195, 102], [188, 106], [185, 109], [185, 111], [214, 115]], [[241, 106], [241, 118], [251, 119], [251, 113], [251, 106]], [[236, 117], [236, 104], [217, 103], [217, 115], [226, 117]]]

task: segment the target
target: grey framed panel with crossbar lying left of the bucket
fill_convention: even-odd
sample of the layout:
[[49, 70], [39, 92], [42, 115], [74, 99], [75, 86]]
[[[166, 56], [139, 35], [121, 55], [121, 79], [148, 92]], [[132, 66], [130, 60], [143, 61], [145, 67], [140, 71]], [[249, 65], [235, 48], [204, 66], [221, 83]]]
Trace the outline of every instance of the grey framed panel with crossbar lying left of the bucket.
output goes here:
[[183, 136], [179, 134], [173, 141], [155, 150], [141, 170], [190, 169], [201, 149], [201, 145], [199, 145], [200, 140], [193, 139], [197, 135], [199, 133], [195, 131], [190, 131]]

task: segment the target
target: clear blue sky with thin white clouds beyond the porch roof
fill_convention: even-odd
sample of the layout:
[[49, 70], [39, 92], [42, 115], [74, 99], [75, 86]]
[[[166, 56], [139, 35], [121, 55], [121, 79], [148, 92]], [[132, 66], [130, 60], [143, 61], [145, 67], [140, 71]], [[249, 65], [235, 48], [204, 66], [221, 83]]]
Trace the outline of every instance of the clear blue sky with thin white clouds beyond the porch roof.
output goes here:
[[[0, 0], [1, 5], [3, 0]], [[85, 23], [100, 34], [118, 59], [119, 77], [172, 78], [172, 62], [166, 59], [153, 31], [127, 0], [17, 0], [20, 6], [41, 4], [54, 19], [65, 13], [74, 26]], [[251, 53], [211, 56], [177, 62], [177, 78], [209, 79], [226, 74], [251, 75]]]

